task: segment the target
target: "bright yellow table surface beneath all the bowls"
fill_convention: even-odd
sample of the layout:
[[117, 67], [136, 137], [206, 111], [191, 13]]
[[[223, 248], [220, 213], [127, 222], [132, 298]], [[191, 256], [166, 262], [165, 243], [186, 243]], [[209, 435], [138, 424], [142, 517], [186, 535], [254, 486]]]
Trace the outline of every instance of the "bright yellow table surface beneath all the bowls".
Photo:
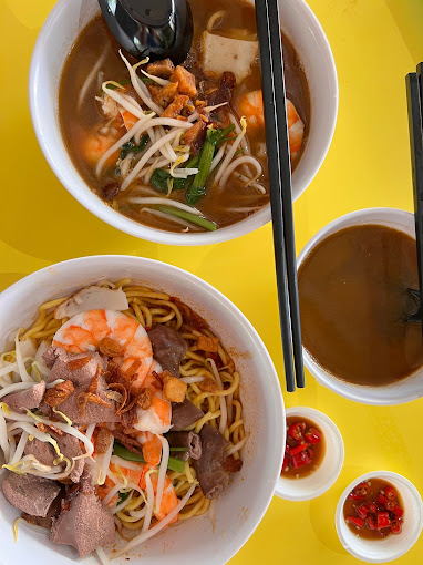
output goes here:
[[[72, 1], [72, 0], [69, 0]], [[96, 254], [128, 254], [171, 263], [204, 278], [249, 318], [283, 388], [270, 225], [234, 242], [177, 248], [142, 242], [103, 224], [60, 185], [38, 146], [28, 107], [28, 72], [37, 34], [54, 0], [0, 0], [1, 214], [0, 290], [52, 263]], [[404, 76], [423, 59], [422, 0], [310, 0], [331, 43], [340, 86], [338, 125], [328, 157], [295, 204], [297, 249], [349, 212], [412, 209]], [[295, 38], [292, 38], [295, 40]], [[423, 400], [378, 408], [350, 402], [307, 376], [287, 407], [310, 405], [339, 425], [345, 462], [337, 483], [311, 502], [275, 497], [233, 565], [349, 565], [334, 510], [358, 475], [400, 472], [423, 492], [423, 450], [415, 435]], [[251, 493], [254, 495], [254, 492]], [[401, 564], [422, 563], [423, 540]]]

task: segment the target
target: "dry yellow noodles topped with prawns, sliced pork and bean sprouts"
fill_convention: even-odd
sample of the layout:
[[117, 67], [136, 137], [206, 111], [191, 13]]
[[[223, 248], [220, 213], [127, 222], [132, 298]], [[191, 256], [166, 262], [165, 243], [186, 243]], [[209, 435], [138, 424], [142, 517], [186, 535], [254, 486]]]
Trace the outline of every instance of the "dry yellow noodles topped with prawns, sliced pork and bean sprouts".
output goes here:
[[44, 302], [2, 356], [2, 492], [80, 557], [106, 563], [115, 527], [134, 536], [125, 555], [230, 489], [239, 382], [207, 321], [166, 292], [122, 279]]

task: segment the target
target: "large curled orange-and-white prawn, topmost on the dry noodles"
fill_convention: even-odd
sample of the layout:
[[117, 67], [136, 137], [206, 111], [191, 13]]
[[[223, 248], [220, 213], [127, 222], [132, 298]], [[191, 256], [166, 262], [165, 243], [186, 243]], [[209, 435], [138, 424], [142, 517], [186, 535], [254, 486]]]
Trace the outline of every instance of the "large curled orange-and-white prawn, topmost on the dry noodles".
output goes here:
[[115, 310], [89, 310], [68, 320], [54, 335], [53, 346], [69, 353], [96, 351], [104, 338], [121, 347], [114, 361], [137, 390], [153, 366], [153, 349], [145, 329], [133, 318]]

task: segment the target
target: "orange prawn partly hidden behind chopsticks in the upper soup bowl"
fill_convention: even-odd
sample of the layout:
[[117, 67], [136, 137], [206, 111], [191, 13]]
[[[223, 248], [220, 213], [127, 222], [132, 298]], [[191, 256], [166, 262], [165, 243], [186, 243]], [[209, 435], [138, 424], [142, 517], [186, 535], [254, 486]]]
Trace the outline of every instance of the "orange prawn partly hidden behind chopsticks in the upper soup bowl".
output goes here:
[[[255, 90], [243, 94], [238, 102], [238, 110], [246, 116], [247, 124], [251, 129], [265, 126], [265, 109], [261, 90]], [[289, 153], [295, 160], [300, 152], [305, 135], [305, 124], [299, 116], [296, 106], [287, 99], [287, 119], [289, 133]]]

